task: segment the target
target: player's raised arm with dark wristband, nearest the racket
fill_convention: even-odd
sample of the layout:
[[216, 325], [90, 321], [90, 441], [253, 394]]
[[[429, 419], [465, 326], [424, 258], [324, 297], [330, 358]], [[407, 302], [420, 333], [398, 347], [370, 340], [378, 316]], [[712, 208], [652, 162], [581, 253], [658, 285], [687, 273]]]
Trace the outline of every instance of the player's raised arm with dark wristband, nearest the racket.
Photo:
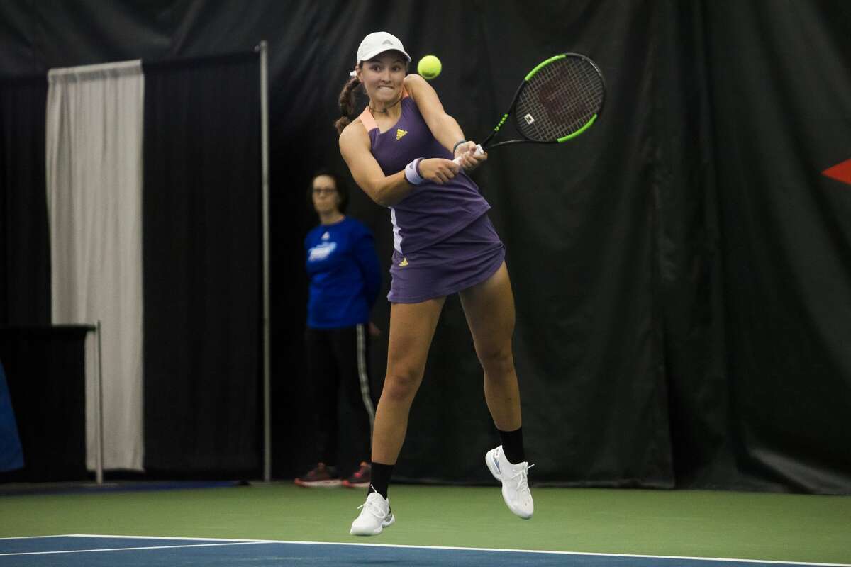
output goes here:
[[[414, 99], [417, 108], [420, 109], [420, 114], [428, 124], [431, 135], [450, 152], [455, 144], [464, 139], [464, 132], [461, 130], [458, 122], [449, 116], [443, 110], [443, 104], [437, 96], [437, 92], [431, 85], [426, 82], [426, 79], [419, 75], [408, 75], [405, 77], [405, 89], [408, 90], [411, 98]], [[476, 143], [468, 141], [465, 144], [455, 148], [454, 156], [461, 157], [461, 166], [465, 169], [472, 169], [480, 162], [488, 159], [487, 154], [473, 157], [473, 152], [476, 150]]]

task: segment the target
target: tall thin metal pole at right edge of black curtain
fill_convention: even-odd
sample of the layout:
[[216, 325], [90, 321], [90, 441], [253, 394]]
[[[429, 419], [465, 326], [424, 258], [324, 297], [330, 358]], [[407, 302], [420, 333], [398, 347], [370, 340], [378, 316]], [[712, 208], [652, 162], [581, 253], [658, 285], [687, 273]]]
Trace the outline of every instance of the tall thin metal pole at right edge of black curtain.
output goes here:
[[271, 332], [269, 317], [269, 48], [260, 42], [260, 156], [263, 194], [263, 480], [271, 481]]

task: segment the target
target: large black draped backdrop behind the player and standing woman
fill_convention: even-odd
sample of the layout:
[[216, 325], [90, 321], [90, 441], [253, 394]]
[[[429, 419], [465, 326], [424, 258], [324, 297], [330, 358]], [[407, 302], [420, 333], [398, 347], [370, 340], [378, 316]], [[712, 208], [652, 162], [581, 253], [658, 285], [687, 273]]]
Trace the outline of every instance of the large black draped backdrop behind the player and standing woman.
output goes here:
[[[851, 157], [849, 26], [838, 0], [3, 3], [0, 69], [269, 41], [274, 472], [291, 477], [312, 458], [304, 189], [342, 169], [330, 123], [361, 37], [441, 57], [434, 85], [472, 137], [532, 65], [588, 54], [609, 87], [597, 125], [477, 174], [508, 247], [534, 479], [849, 492], [851, 187], [820, 175]], [[386, 211], [354, 197], [389, 258]], [[483, 481], [494, 440], [450, 299], [398, 474]]]

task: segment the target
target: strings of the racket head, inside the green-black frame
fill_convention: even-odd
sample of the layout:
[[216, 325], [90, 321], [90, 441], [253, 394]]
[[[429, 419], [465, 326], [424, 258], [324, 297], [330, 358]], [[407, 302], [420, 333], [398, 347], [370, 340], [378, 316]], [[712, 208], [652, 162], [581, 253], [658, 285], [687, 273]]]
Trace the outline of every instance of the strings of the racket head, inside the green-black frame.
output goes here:
[[517, 99], [517, 129], [528, 139], [551, 142], [578, 132], [603, 106], [605, 86], [597, 67], [568, 56], [544, 65]]

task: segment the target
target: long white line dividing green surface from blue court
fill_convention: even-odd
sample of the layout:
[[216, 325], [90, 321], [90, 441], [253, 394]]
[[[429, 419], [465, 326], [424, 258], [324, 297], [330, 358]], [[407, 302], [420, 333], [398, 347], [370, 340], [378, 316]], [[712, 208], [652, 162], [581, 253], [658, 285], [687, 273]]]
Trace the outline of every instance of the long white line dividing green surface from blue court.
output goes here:
[[[499, 547], [448, 547], [448, 546], [411, 546], [391, 543], [347, 543], [345, 541], [288, 541], [288, 540], [243, 540], [225, 539], [216, 537], [168, 537], [168, 536], [95, 536], [89, 534], [73, 534], [71, 537], [111, 537], [127, 539], [150, 539], [150, 540], [192, 540], [192, 541], [232, 541], [238, 543], [294, 543], [299, 545], [326, 545], [326, 546], [361, 546], [361, 547], [402, 547], [412, 549], [449, 549], [454, 551], [492, 551], [505, 553], [555, 553], [558, 555], [591, 555], [595, 557], [629, 557], [647, 559], [688, 559], [692, 561], [728, 561], [730, 563], [757, 563], [757, 564], [784, 564], [784, 565], [818, 565], [823, 567], [851, 567], [847, 563], [811, 563], [807, 561], [772, 561], [768, 559], [735, 559], [719, 557], [688, 557], [682, 555], [642, 555], [636, 553], [595, 553], [578, 551], [546, 551], [543, 549], [500, 549]], [[199, 547], [199, 546], [189, 546]]]

